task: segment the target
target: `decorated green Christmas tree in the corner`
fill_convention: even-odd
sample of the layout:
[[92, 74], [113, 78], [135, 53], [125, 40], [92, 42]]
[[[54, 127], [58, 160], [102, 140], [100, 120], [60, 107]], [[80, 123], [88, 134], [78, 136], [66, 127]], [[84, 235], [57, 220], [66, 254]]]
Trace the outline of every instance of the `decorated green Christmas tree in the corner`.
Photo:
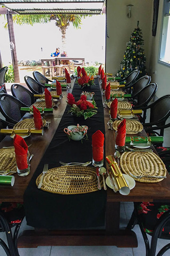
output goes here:
[[124, 59], [121, 61], [121, 69], [118, 70], [117, 77], [124, 78], [129, 75], [134, 69], [140, 70], [140, 77], [146, 75], [146, 56], [142, 45], [142, 30], [139, 28], [139, 21], [137, 28], [131, 34], [130, 41], [124, 53]]

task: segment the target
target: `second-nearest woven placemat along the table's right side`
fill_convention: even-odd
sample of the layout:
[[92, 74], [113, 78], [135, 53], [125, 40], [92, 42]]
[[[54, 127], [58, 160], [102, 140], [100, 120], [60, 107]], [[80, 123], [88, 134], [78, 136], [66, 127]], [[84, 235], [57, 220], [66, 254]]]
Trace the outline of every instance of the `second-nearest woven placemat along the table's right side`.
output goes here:
[[[116, 120], [113, 122], [113, 129], [117, 131], [118, 125], [122, 120]], [[143, 125], [137, 120], [126, 120], [126, 134], [135, 134], [143, 130]]]

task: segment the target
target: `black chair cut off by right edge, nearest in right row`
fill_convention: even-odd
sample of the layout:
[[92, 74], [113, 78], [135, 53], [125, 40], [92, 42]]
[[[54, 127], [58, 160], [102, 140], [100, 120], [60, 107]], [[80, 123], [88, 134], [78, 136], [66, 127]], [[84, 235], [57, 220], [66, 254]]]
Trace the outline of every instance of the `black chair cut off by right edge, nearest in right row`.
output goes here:
[[[149, 123], [143, 123], [143, 128], [150, 136], [151, 133], [158, 136], [164, 136], [164, 129], [170, 127], [170, 123], [166, 123], [170, 116], [170, 94], [165, 95], [142, 110], [150, 109]], [[158, 132], [158, 130], [160, 130]]]

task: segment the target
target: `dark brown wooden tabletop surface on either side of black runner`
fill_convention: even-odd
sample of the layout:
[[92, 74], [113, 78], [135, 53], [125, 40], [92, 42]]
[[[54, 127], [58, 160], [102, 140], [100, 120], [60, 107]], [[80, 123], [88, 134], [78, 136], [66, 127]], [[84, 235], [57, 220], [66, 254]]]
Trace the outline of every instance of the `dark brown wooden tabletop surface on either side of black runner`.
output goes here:
[[[22, 202], [23, 194], [25, 189], [30, 182], [33, 173], [44, 155], [50, 141], [52, 140], [54, 133], [61, 121], [62, 115], [66, 107], [66, 95], [67, 92], [71, 90], [63, 91], [64, 97], [60, 101], [58, 108], [54, 108], [53, 114], [44, 115], [45, 119], [50, 119], [51, 123], [49, 129], [44, 129], [44, 135], [31, 135], [26, 138], [25, 141], [29, 147], [30, 154], [34, 157], [31, 160], [31, 172], [25, 177], [20, 177], [15, 174], [15, 183], [13, 187], [0, 186], [0, 201], [15, 201]], [[105, 115], [105, 140], [106, 140], [106, 156], [113, 155], [115, 151], [115, 131], [107, 129], [107, 122], [109, 119], [109, 109], [104, 108]], [[24, 117], [33, 117], [29, 114], [25, 114]], [[139, 136], [146, 135], [143, 130], [138, 133]], [[13, 146], [13, 139], [10, 136], [6, 136], [4, 140], [0, 143], [0, 148]], [[107, 200], [109, 202], [138, 202], [138, 201], [157, 201], [157, 200], [170, 200], [170, 175], [167, 173], [167, 178], [163, 181], [156, 183], [143, 183], [136, 182], [135, 188], [131, 190], [128, 196], [122, 196], [119, 193], [114, 194], [113, 190], [108, 188], [107, 190]]]

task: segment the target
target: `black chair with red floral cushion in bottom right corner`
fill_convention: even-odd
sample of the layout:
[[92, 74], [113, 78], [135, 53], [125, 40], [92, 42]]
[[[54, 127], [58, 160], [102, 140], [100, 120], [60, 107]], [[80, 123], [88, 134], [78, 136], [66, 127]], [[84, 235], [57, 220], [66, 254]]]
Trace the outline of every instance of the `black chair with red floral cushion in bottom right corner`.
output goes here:
[[[155, 256], [158, 238], [170, 239], [170, 202], [134, 202], [134, 210], [126, 229], [139, 225], [146, 247], [146, 256]], [[148, 236], [151, 236], [149, 244]], [[162, 247], [157, 256], [170, 249], [170, 243]]]

